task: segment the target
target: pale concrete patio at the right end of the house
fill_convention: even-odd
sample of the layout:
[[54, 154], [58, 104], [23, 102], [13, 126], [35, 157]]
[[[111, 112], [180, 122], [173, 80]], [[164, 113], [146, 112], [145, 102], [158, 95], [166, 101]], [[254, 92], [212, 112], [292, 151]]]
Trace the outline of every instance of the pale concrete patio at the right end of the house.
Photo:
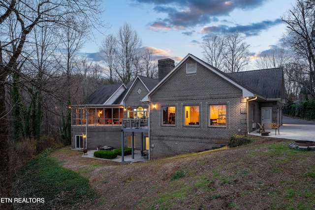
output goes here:
[[[274, 129], [265, 129], [270, 131], [268, 137], [272, 138], [284, 138], [292, 140], [307, 140], [315, 141], [315, 121], [294, 119], [283, 116], [283, 125], [280, 126], [278, 134], [275, 135]], [[257, 131], [250, 133], [251, 135], [261, 136]]]

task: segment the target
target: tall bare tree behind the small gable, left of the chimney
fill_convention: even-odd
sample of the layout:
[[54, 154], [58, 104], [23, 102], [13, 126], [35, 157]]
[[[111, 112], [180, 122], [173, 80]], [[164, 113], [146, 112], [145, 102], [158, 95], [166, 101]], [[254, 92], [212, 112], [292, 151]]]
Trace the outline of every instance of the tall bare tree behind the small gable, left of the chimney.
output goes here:
[[128, 83], [137, 74], [134, 71], [134, 63], [139, 56], [142, 40], [131, 25], [125, 23], [117, 34], [117, 56], [119, 68], [116, 73], [123, 83]]

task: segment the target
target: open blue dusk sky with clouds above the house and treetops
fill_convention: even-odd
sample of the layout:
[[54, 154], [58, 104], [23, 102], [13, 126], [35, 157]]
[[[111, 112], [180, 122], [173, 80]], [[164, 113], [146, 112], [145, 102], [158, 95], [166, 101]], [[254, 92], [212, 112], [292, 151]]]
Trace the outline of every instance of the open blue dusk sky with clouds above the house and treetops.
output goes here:
[[[294, 4], [295, 0], [104, 0], [103, 19], [110, 26], [105, 35], [117, 34], [128, 23], [157, 59], [179, 62], [188, 53], [203, 59], [200, 46], [215, 33], [238, 30], [253, 55], [281, 46], [286, 27], [281, 17]], [[82, 53], [97, 61], [104, 38], [96, 33], [96, 42], [88, 43]]]

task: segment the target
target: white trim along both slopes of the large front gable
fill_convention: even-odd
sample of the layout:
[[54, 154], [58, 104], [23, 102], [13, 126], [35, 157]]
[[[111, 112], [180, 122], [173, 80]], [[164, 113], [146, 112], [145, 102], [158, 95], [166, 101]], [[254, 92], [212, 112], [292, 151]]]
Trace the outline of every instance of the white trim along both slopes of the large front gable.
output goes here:
[[156, 90], [158, 90], [158, 88], [163, 85], [170, 77], [172, 74], [174, 74], [174, 72], [176, 72], [176, 70], [189, 58], [195, 60], [196, 62], [198, 62], [200, 65], [205, 66], [206, 68], [208, 68], [210, 71], [212, 71], [213, 73], [219, 75], [221, 78], [225, 79], [226, 81], [230, 82], [231, 84], [235, 85], [236, 87], [238, 87], [239, 89], [242, 90], [243, 92], [243, 97], [252, 97], [255, 96], [255, 92], [250, 90], [249, 88], [244, 87], [242, 84], [240, 84], [239, 82], [235, 81], [234, 78], [228, 76], [228, 74], [222, 72], [221, 70], [213, 67], [212, 65], [204, 62], [203, 60], [198, 59], [197, 57], [188, 54], [183, 60], [181, 60], [176, 66], [175, 68], [173, 68], [152, 90], [150, 90], [150, 92], [142, 99], [142, 101], [149, 101], [150, 100], [150, 95], [153, 94]]

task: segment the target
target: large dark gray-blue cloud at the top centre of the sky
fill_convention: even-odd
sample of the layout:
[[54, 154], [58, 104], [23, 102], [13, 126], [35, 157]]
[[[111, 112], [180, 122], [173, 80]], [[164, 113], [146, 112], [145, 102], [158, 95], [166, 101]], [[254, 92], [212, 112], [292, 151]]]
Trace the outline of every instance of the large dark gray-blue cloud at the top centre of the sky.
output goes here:
[[[152, 4], [153, 10], [165, 13], [165, 19], [153, 22], [150, 30], [186, 29], [218, 21], [235, 9], [249, 10], [261, 6], [267, 0], [133, 0], [137, 3]], [[163, 25], [164, 27], [156, 27]]]

